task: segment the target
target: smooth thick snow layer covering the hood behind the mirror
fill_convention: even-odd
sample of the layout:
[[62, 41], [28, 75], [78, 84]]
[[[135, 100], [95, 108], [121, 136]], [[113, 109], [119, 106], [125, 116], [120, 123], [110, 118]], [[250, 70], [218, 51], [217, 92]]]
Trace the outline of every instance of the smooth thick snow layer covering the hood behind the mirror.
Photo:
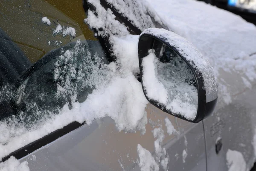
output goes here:
[[[238, 93], [237, 83], [221, 81], [225, 72], [244, 75], [252, 85], [255, 83], [256, 27], [253, 24], [196, 0], [147, 2], [150, 4], [148, 9], [157, 13], [169, 30], [185, 37], [209, 60], [218, 77], [218, 106], [231, 103], [233, 94]], [[244, 85], [250, 88], [247, 82]]]

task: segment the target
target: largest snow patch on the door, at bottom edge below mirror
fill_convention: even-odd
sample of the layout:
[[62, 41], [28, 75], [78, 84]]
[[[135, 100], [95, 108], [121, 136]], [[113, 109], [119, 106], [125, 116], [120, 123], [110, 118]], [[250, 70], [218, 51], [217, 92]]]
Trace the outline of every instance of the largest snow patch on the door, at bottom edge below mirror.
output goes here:
[[137, 152], [140, 157], [139, 166], [141, 171], [159, 171], [159, 165], [148, 150], [138, 144]]

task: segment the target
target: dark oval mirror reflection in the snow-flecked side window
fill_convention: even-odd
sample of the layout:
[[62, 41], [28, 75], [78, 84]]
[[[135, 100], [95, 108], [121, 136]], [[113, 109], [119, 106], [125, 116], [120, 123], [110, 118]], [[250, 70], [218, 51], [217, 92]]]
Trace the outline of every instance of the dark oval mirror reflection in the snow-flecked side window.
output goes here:
[[64, 106], [70, 109], [74, 103], [84, 102], [102, 83], [109, 73], [107, 60], [95, 43], [78, 40], [42, 58], [49, 62], [40, 65], [17, 89], [16, 104], [25, 125], [56, 115]]

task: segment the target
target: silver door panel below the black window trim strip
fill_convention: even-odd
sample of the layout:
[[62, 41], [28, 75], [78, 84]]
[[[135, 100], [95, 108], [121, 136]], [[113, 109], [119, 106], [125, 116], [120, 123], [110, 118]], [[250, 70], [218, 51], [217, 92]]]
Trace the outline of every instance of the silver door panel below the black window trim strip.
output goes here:
[[[154, 154], [152, 130], [162, 125], [165, 132], [164, 148], [169, 155], [169, 170], [206, 170], [203, 124], [192, 124], [160, 111], [153, 105], [147, 107], [152, 124], [146, 133], [118, 131], [114, 121], [105, 117], [83, 125], [69, 134], [38, 149], [20, 161], [27, 161], [32, 171], [100, 171], [140, 170], [137, 164], [137, 145]], [[166, 134], [164, 119], [168, 117], [180, 134]], [[187, 141], [187, 142], [186, 142]], [[183, 162], [183, 151], [187, 157]]]

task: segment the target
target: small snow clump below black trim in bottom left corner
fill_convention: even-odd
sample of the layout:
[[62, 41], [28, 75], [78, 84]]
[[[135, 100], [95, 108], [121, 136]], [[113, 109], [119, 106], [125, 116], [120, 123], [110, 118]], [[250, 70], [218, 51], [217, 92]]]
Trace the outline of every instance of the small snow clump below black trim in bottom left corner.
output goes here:
[[19, 162], [15, 157], [11, 156], [5, 162], [0, 162], [1, 171], [29, 171], [28, 162]]

